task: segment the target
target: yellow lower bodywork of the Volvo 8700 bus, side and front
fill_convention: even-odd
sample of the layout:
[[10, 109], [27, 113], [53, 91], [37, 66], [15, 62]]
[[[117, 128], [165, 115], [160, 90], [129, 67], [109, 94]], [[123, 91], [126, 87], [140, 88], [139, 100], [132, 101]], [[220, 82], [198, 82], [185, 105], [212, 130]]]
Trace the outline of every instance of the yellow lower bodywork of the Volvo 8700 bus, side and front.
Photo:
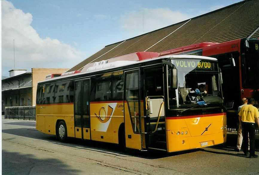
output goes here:
[[[91, 102], [91, 127], [83, 128], [83, 139], [118, 144], [119, 127], [124, 123], [124, 109], [125, 122], [128, 125], [131, 124], [127, 103], [125, 103], [125, 108], [123, 105], [122, 101]], [[56, 125], [60, 120], [65, 121], [68, 137], [82, 138], [82, 128], [74, 127], [73, 103], [36, 105], [36, 129], [38, 131], [56, 135]], [[144, 128], [144, 119], [141, 123]], [[166, 117], [165, 125], [167, 152], [202, 148], [226, 142], [226, 113]], [[133, 126], [125, 127], [125, 133], [132, 136], [128, 139], [126, 134], [126, 147], [139, 149], [141, 148], [141, 136], [134, 134], [133, 129]], [[89, 132], [90, 130], [91, 132]], [[204, 145], [202, 145], [203, 143]], [[142, 148], [145, 147], [145, 135], [142, 134]]]

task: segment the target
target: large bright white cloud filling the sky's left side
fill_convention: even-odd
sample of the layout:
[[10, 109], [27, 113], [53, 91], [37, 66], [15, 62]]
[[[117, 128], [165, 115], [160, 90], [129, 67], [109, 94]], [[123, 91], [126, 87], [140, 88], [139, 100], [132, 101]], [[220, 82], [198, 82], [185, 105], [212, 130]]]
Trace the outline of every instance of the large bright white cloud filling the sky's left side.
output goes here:
[[31, 26], [32, 15], [2, 1], [2, 74], [14, 68], [71, 68], [83, 59], [83, 53], [57, 39], [42, 39]]

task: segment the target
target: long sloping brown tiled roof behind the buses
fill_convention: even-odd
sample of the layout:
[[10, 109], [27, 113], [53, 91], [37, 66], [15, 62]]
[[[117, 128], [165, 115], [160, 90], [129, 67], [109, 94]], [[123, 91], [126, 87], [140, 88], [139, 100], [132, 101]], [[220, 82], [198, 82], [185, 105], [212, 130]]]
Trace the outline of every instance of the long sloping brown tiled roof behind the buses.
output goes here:
[[[125, 41], [110, 44], [72, 67], [68, 72], [81, 70], [90, 62], [98, 62], [147, 49], [149, 52], [161, 52], [200, 42], [226, 42], [246, 38], [259, 27], [258, 9], [258, 0], [241, 1], [191, 20], [188, 19]], [[251, 38], [258, 37], [259, 30]], [[163, 40], [160, 41], [161, 39]]]

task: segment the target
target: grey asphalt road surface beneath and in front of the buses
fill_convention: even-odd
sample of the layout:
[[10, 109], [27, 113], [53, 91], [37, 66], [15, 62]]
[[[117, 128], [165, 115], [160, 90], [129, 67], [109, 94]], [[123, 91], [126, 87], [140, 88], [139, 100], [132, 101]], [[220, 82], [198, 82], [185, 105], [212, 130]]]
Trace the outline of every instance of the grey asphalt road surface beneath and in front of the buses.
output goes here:
[[2, 174], [259, 174], [259, 158], [234, 152], [236, 139], [228, 132], [225, 146], [121, 152], [102, 142], [71, 138], [60, 143], [37, 131], [35, 121], [2, 119]]

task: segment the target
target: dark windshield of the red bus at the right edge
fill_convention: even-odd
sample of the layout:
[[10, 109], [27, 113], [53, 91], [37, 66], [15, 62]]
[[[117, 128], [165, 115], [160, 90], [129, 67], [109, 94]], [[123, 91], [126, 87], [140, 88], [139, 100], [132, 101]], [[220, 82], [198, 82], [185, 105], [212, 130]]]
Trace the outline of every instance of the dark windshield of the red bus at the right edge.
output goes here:
[[243, 44], [242, 85], [243, 88], [259, 89], [259, 40], [246, 39]]

